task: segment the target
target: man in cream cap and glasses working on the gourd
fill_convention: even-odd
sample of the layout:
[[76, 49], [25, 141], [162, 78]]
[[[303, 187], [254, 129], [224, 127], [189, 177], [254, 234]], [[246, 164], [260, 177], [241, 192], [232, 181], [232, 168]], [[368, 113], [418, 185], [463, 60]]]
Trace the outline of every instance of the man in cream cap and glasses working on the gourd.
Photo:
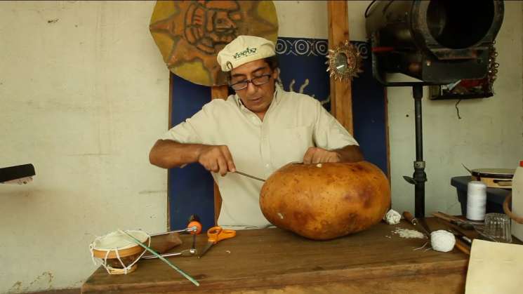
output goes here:
[[[150, 152], [162, 168], [198, 162], [220, 188], [218, 225], [267, 227], [259, 206], [259, 178], [292, 161], [350, 162], [363, 159], [357, 142], [310, 96], [277, 86], [274, 44], [257, 36], [238, 36], [218, 53], [236, 95], [204, 105], [169, 130]], [[218, 175], [219, 174], [219, 175]], [[221, 176], [220, 176], [221, 175]]]

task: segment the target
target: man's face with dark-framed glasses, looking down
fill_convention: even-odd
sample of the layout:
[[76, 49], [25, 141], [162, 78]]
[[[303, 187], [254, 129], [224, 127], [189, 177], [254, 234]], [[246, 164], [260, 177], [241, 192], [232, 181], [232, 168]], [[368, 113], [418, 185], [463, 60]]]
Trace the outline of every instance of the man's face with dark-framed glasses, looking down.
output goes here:
[[244, 106], [260, 116], [260, 119], [263, 119], [263, 116], [265, 116], [265, 112], [269, 109], [274, 97], [274, 79], [277, 79], [278, 72], [276, 70], [272, 71], [263, 59], [247, 62], [231, 71], [231, 84], [251, 80], [266, 74], [270, 74], [270, 79], [267, 83], [261, 86], [248, 83], [247, 88], [236, 90]]

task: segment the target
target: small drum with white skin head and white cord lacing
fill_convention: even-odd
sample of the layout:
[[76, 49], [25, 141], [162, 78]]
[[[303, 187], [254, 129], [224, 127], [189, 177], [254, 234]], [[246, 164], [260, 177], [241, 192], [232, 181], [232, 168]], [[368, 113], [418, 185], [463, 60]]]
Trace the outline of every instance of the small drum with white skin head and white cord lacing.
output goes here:
[[[140, 242], [150, 246], [151, 237], [143, 231], [126, 231]], [[128, 274], [134, 272], [136, 262], [145, 253], [145, 248], [139, 246], [131, 237], [121, 232], [112, 232], [105, 236], [99, 236], [89, 245], [91, 258], [96, 265], [95, 258], [109, 274]]]

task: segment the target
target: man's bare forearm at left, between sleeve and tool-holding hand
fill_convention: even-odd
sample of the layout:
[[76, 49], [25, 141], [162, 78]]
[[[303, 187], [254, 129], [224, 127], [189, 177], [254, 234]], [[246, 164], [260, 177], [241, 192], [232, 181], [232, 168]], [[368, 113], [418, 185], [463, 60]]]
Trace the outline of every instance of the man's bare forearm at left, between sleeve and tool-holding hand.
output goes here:
[[175, 168], [198, 161], [205, 145], [182, 144], [173, 140], [158, 140], [149, 153], [149, 161], [161, 168]]

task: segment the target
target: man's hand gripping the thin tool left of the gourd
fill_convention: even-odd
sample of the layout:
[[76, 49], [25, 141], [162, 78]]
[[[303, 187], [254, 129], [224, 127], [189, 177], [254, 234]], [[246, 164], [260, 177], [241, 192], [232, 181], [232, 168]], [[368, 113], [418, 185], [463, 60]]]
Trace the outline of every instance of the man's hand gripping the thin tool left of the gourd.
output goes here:
[[226, 175], [227, 172], [234, 173], [236, 171], [232, 155], [225, 145], [201, 145], [198, 162], [207, 171], [220, 173], [222, 176]]

